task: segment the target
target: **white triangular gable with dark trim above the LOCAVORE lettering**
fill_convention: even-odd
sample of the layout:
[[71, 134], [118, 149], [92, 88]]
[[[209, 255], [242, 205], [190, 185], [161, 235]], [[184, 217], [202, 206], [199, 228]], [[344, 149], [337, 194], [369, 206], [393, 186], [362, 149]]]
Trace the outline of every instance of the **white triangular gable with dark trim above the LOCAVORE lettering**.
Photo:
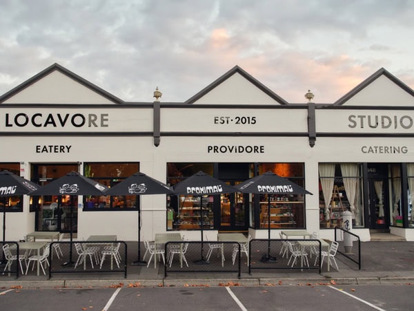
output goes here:
[[121, 104], [123, 100], [59, 64], [0, 97], [0, 104]]

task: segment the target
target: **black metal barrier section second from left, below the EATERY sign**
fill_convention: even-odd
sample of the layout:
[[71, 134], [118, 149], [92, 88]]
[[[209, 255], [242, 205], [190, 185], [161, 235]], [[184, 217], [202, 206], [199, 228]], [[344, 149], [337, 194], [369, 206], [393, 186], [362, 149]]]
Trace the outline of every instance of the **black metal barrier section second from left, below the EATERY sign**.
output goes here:
[[49, 278], [56, 273], [123, 273], [127, 276], [124, 241], [50, 243]]

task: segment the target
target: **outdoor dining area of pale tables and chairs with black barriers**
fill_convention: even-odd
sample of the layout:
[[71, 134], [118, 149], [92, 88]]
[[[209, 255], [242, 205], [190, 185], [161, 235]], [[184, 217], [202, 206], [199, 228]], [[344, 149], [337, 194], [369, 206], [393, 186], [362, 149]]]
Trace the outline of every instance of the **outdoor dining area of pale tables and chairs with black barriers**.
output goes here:
[[[284, 233], [287, 231], [284, 230]], [[292, 231], [287, 236], [284, 233], [281, 232], [280, 239], [270, 241], [255, 239], [248, 234], [219, 233], [217, 241], [208, 241], [206, 238], [203, 243], [201, 241], [187, 241], [179, 232], [155, 234], [155, 241], [144, 239], [143, 248], [146, 251], [142, 260], [145, 266], [141, 269], [159, 268], [161, 271], [164, 270], [166, 274], [209, 271], [251, 273], [251, 270], [268, 269], [290, 270], [292, 272], [314, 270], [318, 272], [319, 268], [324, 268], [326, 271], [330, 267], [339, 271], [335, 260], [337, 243], [313, 239], [312, 237], [315, 236], [303, 230]], [[287, 238], [288, 236], [294, 238]], [[297, 238], [298, 236], [300, 238]], [[131, 243], [132, 245], [136, 244]], [[129, 266], [128, 257], [136, 256], [134, 251], [130, 249], [128, 254], [126, 253], [126, 243], [117, 241], [117, 236], [92, 235], [86, 240], [73, 241], [72, 249], [70, 241], [38, 240], [17, 244], [19, 245], [19, 260], [15, 257], [17, 255], [15, 245], [14, 247], [10, 247], [10, 245], [3, 247], [8, 258], [11, 258], [8, 249], [11, 249], [11, 255], [14, 256], [10, 260], [10, 264], [4, 268], [4, 272], [12, 272], [19, 268], [23, 277], [27, 274], [47, 275], [49, 267], [52, 274], [124, 272], [124, 270], [126, 273], [127, 266]], [[53, 250], [54, 245], [59, 245], [61, 254], [50, 257], [50, 254], [56, 255]], [[28, 256], [30, 249], [32, 249], [32, 254]], [[263, 261], [263, 258], [268, 255], [274, 260]], [[229, 260], [226, 261], [226, 258]], [[204, 262], [200, 264], [201, 259], [204, 259]]]

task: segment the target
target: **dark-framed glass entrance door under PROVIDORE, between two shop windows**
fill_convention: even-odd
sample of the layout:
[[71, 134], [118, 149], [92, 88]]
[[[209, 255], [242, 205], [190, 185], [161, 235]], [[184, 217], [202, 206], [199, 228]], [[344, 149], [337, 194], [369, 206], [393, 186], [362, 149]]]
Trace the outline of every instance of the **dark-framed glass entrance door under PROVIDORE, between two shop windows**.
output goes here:
[[[234, 186], [241, 183], [241, 181], [226, 183]], [[248, 202], [248, 194], [221, 194], [219, 230], [244, 231], [248, 229], [248, 213], [246, 213], [247, 209], [244, 202]]]

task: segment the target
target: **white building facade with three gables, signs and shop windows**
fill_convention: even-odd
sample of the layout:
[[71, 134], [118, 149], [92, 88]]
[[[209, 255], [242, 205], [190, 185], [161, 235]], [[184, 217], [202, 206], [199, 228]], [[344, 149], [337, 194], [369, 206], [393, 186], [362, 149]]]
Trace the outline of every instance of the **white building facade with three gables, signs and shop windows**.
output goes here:
[[[174, 185], [205, 171], [236, 185], [273, 171], [313, 196], [226, 194], [0, 198], [6, 241], [27, 232], [78, 238], [117, 234], [137, 240], [157, 232], [249, 231], [267, 237], [307, 229], [333, 238], [342, 212], [353, 232], [373, 230], [414, 241], [414, 91], [383, 68], [332, 104], [283, 100], [235, 66], [183, 103], [124, 102], [58, 64], [0, 97], [0, 170], [39, 185], [79, 171], [108, 187], [136, 171]], [[264, 204], [266, 202], [266, 204]], [[200, 209], [203, 204], [204, 209]], [[269, 216], [270, 215], [270, 216]], [[0, 220], [1, 225], [3, 220]]]

